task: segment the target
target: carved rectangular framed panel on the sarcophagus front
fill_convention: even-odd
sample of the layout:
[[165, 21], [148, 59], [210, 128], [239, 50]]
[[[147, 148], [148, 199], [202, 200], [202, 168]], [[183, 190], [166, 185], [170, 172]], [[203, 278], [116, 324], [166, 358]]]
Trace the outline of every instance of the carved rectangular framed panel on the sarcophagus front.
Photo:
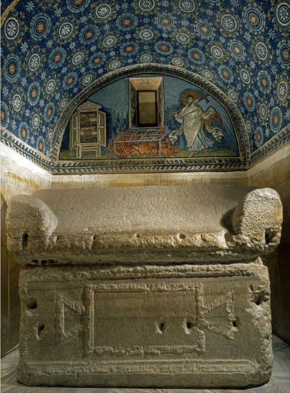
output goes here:
[[86, 307], [88, 355], [204, 352], [202, 284], [88, 284]]

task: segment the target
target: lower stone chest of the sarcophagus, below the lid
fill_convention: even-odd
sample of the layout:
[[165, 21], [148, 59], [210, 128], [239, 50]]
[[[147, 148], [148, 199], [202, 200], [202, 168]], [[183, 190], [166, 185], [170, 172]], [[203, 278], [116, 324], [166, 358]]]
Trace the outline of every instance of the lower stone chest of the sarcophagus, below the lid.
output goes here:
[[248, 387], [271, 374], [259, 260], [193, 266], [22, 267], [19, 382]]

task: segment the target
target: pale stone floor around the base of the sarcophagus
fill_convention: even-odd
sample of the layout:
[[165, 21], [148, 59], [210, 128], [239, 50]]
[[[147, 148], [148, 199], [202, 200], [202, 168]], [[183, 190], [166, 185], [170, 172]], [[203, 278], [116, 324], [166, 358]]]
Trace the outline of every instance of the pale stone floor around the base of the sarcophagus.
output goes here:
[[14, 349], [1, 359], [1, 393], [290, 393], [290, 347], [272, 337], [274, 369], [268, 384], [251, 389], [97, 389], [63, 387], [26, 387], [16, 382], [19, 353]]

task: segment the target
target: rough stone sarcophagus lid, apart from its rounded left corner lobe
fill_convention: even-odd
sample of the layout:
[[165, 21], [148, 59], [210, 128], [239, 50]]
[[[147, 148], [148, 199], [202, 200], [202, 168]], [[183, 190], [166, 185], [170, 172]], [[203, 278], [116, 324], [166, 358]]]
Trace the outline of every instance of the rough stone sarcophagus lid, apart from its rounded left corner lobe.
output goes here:
[[250, 261], [278, 244], [281, 202], [274, 190], [249, 191], [222, 186], [37, 191], [58, 226], [38, 234], [46, 247], [29, 239], [25, 251], [19, 246], [24, 226], [18, 233], [18, 219], [9, 217], [16, 231], [9, 247], [19, 262], [30, 264]]

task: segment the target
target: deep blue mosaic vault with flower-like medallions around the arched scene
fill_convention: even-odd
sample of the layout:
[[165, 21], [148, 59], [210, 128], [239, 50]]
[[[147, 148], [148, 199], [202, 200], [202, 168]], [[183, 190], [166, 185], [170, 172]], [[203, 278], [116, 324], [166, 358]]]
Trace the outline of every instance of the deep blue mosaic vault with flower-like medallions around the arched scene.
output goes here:
[[76, 97], [153, 64], [227, 97], [248, 166], [289, 139], [288, 0], [20, 0], [1, 11], [1, 140], [41, 166], [53, 166]]

